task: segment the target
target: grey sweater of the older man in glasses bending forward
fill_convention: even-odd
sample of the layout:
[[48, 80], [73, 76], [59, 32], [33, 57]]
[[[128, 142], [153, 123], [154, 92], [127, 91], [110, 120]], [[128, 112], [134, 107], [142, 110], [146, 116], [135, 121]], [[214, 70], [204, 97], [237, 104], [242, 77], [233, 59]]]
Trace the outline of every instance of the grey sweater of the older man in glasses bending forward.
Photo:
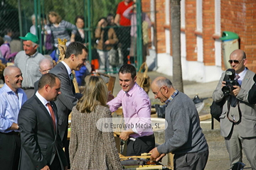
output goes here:
[[179, 91], [165, 111], [168, 127], [165, 130], [166, 142], [157, 147], [160, 154], [186, 154], [208, 150], [198, 112], [191, 98]]

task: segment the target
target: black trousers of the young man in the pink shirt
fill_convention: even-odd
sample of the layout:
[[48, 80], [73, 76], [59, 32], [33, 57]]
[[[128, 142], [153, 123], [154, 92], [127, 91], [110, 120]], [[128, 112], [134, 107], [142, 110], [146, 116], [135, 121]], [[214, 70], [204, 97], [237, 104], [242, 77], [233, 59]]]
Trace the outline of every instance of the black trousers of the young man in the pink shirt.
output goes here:
[[135, 141], [127, 141], [127, 156], [140, 156], [143, 153], [148, 153], [154, 147], [154, 134], [144, 137], [137, 137]]

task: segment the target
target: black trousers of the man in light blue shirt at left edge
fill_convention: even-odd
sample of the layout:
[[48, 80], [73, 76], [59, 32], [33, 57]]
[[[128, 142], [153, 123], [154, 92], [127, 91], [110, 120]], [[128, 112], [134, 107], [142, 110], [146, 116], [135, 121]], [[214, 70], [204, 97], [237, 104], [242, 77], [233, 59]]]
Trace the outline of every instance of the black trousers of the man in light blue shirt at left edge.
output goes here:
[[0, 132], [1, 170], [17, 170], [21, 152], [21, 137], [18, 132]]

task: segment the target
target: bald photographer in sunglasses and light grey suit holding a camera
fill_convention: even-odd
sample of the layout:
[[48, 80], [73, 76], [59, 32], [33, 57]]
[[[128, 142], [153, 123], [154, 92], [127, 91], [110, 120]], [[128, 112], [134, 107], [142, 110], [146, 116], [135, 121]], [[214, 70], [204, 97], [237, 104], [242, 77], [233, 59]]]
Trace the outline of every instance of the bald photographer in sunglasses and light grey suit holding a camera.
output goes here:
[[222, 74], [213, 91], [215, 102], [225, 101], [220, 115], [220, 135], [225, 137], [231, 169], [236, 162], [242, 162], [242, 149], [252, 169], [256, 169], [256, 106], [247, 100], [255, 84], [255, 73], [245, 67], [247, 59], [242, 50], [234, 50], [228, 62], [232, 69]]

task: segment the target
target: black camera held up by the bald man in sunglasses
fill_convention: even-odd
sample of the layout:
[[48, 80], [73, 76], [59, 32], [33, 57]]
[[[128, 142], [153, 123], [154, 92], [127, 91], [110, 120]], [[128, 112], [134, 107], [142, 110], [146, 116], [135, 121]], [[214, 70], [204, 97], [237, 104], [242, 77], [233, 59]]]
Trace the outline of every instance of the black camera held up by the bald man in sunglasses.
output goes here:
[[224, 95], [230, 94], [230, 92], [233, 91], [234, 86], [240, 86], [238, 80], [235, 79], [235, 69], [227, 69], [223, 81], [225, 81], [226, 84], [221, 89]]

